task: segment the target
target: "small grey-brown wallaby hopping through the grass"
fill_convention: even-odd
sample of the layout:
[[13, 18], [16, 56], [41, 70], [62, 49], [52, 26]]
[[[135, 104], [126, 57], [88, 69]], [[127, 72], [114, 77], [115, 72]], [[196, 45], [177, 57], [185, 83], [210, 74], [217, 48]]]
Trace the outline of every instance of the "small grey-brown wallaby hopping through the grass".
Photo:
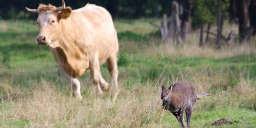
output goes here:
[[172, 112], [183, 128], [185, 128], [183, 110], [185, 110], [189, 128], [194, 104], [197, 99], [203, 99], [205, 96], [210, 96], [210, 93], [198, 94], [195, 87], [189, 82], [176, 82], [168, 89], [162, 85], [163, 109]]

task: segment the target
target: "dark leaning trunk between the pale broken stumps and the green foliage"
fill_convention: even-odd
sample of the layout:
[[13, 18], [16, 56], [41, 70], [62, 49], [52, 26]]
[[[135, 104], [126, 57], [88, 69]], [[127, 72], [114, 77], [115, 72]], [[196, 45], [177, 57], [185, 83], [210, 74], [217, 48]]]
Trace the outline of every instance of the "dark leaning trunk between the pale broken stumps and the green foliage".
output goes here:
[[193, 0], [185, 0], [184, 1], [184, 9], [186, 11], [183, 12], [181, 16], [181, 38], [183, 41], [186, 41], [187, 33], [191, 28], [191, 9], [193, 6]]

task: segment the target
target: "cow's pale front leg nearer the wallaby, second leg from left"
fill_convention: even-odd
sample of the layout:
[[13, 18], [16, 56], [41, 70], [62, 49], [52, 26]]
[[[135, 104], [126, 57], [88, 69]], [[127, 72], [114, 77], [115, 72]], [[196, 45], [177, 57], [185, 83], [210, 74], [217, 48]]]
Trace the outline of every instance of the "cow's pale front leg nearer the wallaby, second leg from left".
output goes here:
[[91, 73], [91, 81], [94, 84], [97, 93], [102, 96], [103, 91], [100, 88], [100, 64], [99, 64], [99, 59], [98, 59], [98, 54], [94, 55], [92, 61], [90, 62], [90, 73]]

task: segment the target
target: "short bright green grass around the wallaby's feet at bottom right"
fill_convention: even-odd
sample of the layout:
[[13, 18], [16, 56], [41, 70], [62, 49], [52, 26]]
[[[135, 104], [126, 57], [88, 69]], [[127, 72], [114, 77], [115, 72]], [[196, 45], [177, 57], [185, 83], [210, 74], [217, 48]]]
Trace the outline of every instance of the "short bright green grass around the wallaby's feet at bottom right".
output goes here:
[[[236, 112], [236, 113], [234, 113]], [[247, 116], [244, 116], [247, 115]], [[244, 121], [247, 120], [251, 122], [250, 124], [241, 124], [239, 122], [234, 122], [232, 124], [225, 124], [222, 127], [255, 127], [255, 112], [243, 110], [243, 109], [219, 109], [213, 111], [205, 111], [205, 110], [195, 110], [192, 119], [191, 126], [193, 127], [212, 127], [208, 125], [209, 122], [214, 122], [217, 119], [233, 119], [234, 121]], [[184, 117], [184, 119], [186, 119]], [[163, 118], [163, 127], [179, 127], [179, 123], [176, 121], [176, 118], [171, 113], [165, 113], [165, 117]], [[214, 126], [216, 127], [216, 126]]]

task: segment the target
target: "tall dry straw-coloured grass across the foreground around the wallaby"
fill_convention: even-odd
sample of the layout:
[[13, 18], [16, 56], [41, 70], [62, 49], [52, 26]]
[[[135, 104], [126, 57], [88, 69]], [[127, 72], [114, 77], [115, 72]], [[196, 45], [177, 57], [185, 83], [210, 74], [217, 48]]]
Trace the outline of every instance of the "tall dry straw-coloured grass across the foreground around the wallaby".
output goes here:
[[[198, 92], [211, 92], [211, 83], [205, 83], [207, 78], [202, 78], [199, 74], [194, 74], [192, 80], [186, 81], [194, 83]], [[73, 95], [67, 94], [69, 92], [61, 92], [52, 83], [44, 80], [41, 83], [32, 83], [36, 84], [34, 88], [24, 90], [5, 85], [4, 88], [9, 88], [10, 94], [15, 90], [16, 95], [1, 103], [2, 127], [6, 123], [8, 127], [16, 127], [13, 122], [17, 121], [25, 121], [25, 127], [168, 127], [170, 124], [179, 127], [174, 116], [162, 110], [160, 84], [156, 88], [154, 84], [138, 84], [127, 90], [122, 86], [123, 82], [124, 80], [119, 82], [120, 92], [117, 98], [109, 93], [102, 98], [96, 98], [92, 87], [83, 87], [89, 91], [83, 95], [82, 101], [75, 100]], [[256, 104], [255, 85], [256, 81], [241, 78], [235, 88], [211, 92], [211, 96], [198, 100], [194, 113], [200, 110], [218, 110], [223, 106], [253, 109], [253, 104]], [[163, 120], [166, 116], [170, 117], [169, 120], [174, 120], [167, 123]]]

